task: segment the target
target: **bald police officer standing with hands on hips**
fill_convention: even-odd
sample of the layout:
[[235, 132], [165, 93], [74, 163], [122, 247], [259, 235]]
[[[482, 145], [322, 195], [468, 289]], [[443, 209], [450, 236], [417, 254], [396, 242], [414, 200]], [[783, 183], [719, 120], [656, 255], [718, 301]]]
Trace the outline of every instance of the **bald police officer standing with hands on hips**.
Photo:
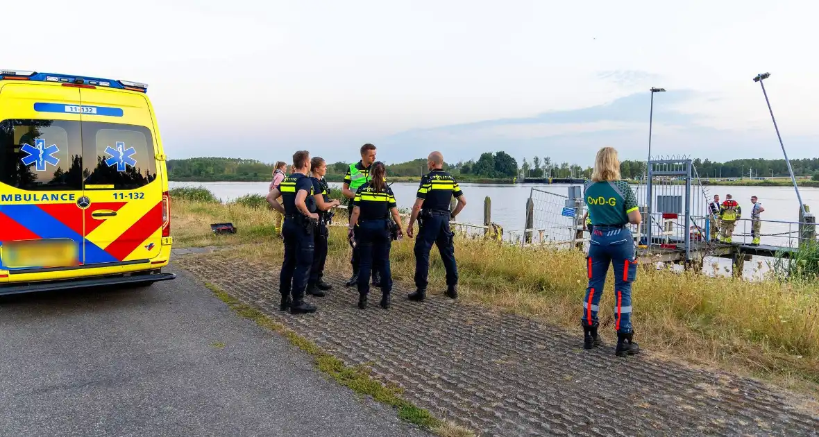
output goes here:
[[[418, 239], [415, 240], [416, 291], [409, 295], [409, 300], [423, 301], [427, 295], [429, 250], [432, 249], [432, 243], [438, 246], [446, 268], [446, 295], [452, 299], [458, 297], [458, 267], [455, 264], [455, 246], [452, 243], [454, 234], [450, 230], [450, 219], [464, 209], [466, 197], [458, 182], [443, 170], [443, 166], [444, 155], [440, 151], [429, 154], [427, 167], [431, 171], [421, 178], [418, 198], [409, 217], [408, 237], [413, 237], [415, 220], [419, 222]], [[458, 205], [450, 214], [452, 196], [458, 199]]]

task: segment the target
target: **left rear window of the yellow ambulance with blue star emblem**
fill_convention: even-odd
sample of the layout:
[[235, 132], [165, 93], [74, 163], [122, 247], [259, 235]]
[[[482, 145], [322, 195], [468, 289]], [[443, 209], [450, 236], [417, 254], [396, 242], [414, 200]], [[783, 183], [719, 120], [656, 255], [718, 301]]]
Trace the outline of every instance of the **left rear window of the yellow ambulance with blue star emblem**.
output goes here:
[[22, 190], [82, 189], [79, 122], [7, 119], [0, 122], [0, 182]]

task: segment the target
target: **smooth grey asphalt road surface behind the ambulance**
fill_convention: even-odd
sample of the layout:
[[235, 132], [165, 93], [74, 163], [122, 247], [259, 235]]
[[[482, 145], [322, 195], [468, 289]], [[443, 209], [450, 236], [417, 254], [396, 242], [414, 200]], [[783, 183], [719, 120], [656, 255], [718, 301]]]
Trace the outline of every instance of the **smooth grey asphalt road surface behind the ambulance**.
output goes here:
[[0, 435], [424, 435], [176, 273], [0, 300]]

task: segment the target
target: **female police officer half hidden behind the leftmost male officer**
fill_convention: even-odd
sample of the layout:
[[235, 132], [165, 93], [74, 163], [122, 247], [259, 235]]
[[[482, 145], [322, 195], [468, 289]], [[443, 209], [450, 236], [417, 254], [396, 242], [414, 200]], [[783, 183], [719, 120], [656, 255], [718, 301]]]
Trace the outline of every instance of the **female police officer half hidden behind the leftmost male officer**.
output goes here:
[[315, 251], [313, 254], [313, 265], [310, 267], [310, 279], [307, 280], [307, 294], [316, 297], [324, 297], [324, 291], [333, 289], [333, 286], [324, 282], [324, 262], [327, 261], [327, 238], [329, 232], [327, 224], [333, 218], [332, 209], [342, 202], [330, 200], [328, 191], [330, 187], [324, 180], [327, 173], [327, 163], [319, 156], [310, 160], [310, 180], [313, 182], [313, 197], [319, 214], [318, 222], [314, 223], [313, 236]]

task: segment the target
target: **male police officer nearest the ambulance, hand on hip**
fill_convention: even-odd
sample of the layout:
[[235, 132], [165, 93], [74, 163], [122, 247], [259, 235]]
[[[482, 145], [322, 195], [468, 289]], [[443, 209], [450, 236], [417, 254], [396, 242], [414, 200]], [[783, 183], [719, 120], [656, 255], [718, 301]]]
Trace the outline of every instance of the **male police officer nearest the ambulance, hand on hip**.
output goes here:
[[[313, 182], [310, 173], [310, 152], [293, 154], [295, 171], [284, 178], [267, 195], [267, 203], [284, 215], [284, 262], [279, 276], [278, 291], [282, 295], [279, 309], [291, 314], [314, 313], [315, 307], [304, 300], [307, 277], [313, 264], [315, 213]], [[278, 197], [283, 197], [280, 205]], [[292, 282], [292, 287], [291, 287]]]

